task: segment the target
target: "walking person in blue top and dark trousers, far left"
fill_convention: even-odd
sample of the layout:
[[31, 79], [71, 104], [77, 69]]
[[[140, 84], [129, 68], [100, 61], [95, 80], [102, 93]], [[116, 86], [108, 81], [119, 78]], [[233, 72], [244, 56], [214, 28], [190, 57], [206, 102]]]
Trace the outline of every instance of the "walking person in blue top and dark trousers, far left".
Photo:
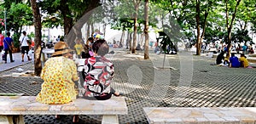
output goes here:
[[10, 33], [7, 32], [6, 33], [7, 37], [5, 37], [3, 39], [3, 50], [4, 50], [4, 63], [7, 63], [7, 54], [9, 53], [9, 59], [10, 59], [10, 62], [15, 62], [15, 60], [13, 59], [13, 53], [12, 53], [12, 49], [13, 49], [13, 46], [14, 46], [14, 40], [9, 37], [10, 36]]

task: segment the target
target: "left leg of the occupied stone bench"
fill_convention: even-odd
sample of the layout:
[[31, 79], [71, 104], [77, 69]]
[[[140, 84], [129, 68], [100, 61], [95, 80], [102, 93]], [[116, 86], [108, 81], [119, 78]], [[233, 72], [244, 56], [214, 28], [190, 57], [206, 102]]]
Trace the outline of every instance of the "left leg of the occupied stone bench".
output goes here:
[[25, 124], [23, 116], [0, 116], [0, 124]]

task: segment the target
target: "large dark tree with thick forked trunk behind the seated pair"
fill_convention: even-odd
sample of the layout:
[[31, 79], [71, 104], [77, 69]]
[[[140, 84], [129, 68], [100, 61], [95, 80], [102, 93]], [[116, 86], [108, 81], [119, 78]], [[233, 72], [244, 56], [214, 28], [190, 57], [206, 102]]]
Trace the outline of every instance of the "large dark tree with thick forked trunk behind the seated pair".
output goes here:
[[[100, 5], [101, 0], [45, 0], [40, 1], [42, 12], [58, 16], [63, 20], [64, 34], [68, 45], [73, 48], [75, 38], [82, 38], [81, 28], [92, 14], [94, 8]], [[84, 17], [86, 16], [86, 17]], [[49, 18], [51, 20], [51, 18]], [[75, 24], [75, 25], [74, 25]], [[72, 31], [72, 32], [70, 32]]]

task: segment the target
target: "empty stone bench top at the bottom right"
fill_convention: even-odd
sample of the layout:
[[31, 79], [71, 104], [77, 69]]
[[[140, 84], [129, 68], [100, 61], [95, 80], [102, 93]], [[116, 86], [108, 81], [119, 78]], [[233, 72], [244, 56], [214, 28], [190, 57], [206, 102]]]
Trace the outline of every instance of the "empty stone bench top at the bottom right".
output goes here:
[[149, 124], [255, 124], [256, 108], [143, 108]]

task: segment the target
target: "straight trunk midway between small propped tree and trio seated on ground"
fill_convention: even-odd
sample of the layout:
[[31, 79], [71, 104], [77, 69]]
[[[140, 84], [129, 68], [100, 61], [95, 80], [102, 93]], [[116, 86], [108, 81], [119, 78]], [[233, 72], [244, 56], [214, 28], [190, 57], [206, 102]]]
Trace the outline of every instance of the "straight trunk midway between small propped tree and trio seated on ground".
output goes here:
[[196, 15], [195, 15], [195, 20], [196, 20], [196, 31], [197, 31], [197, 36], [196, 36], [196, 55], [201, 55], [201, 38], [200, 38], [200, 2], [196, 0]]

